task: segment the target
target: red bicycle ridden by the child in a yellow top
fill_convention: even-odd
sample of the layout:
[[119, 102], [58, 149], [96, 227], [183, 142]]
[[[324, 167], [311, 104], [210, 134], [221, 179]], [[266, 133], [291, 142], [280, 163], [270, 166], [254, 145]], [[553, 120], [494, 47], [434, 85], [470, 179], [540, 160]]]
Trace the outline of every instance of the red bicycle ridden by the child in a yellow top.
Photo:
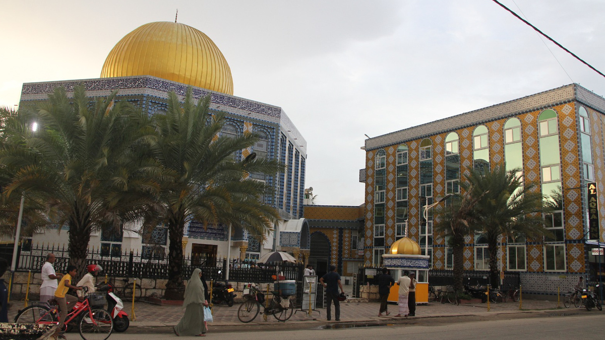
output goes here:
[[[88, 291], [84, 289], [85, 299], [77, 302], [76, 307], [67, 314], [64, 321], [64, 329], [71, 321], [76, 321], [80, 336], [84, 340], [105, 340], [113, 332], [113, 319], [103, 307], [94, 308], [88, 299]], [[49, 302], [56, 302], [52, 299]], [[19, 310], [15, 316], [15, 323], [27, 324], [59, 324], [59, 309], [56, 303], [51, 307], [45, 304], [34, 304]]]

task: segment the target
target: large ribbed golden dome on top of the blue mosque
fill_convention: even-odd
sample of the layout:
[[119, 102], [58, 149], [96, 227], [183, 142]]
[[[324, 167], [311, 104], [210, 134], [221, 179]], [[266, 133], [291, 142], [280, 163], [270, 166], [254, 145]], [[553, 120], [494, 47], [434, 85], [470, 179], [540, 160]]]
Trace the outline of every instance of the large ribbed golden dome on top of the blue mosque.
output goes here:
[[102, 78], [145, 75], [233, 94], [231, 69], [217, 45], [177, 22], [150, 22], [126, 34], [101, 70]]

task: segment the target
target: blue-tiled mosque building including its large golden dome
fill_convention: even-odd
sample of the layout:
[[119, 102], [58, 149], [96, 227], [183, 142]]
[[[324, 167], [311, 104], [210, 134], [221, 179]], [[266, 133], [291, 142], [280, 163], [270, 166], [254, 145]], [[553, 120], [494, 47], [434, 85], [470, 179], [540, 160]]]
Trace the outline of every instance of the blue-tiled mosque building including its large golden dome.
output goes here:
[[[307, 160], [306, 140], [279, 106], [255, 102], [234, 96], [234, 84], [227, 60], [217, 45], [201, 31], [177, 22], [151, 22], [126, 34], [108, 54], [97, 79], [60, 80], [54, 82], [24, 83], [21, 105], [46, 100], [54, 88], [64, 87], [68, 95], [83, 84], [87, 96], [108, 96], [117, 90], [118, 100], [127, 100], [149, 114], [167, 108], [169, 91], [183, 98], [189, 87], [193, 96], [211, 96], [211, 112], [226, 113], [227, 123], [222, 134], [229, 136], [255, 132], [260, 140], [249, 149], [238, 152], [243, 160], [252, 152], [257, 157], [281, 160], [287, 167], [275, 177], [252, 174], [275, 188], [273, 197], [264, 197], [267, 204], [280, 213], [276, 231], [266, 241], [248, 237], [242, 230], [234, 230], [231, 245], [227, 244], [227, 230], [222, 225], [204, 229], [201, 223], [186, 226], [183, 247], [185, 254], [201, 258], [227, 256], [242, 260], [258, 259], [261, 253], [282, 246], [296, 250], [295, 255], [309, 253], [309, 230], [301, 223]], [[153, 244], [144, 244], [136, 232], [124, 226], [122, 233], [93, 234], [90, 246], [100, 247], [104, 255], [136, 250], [143, 255], [163, 258], [168, 246], [168, 232], [157, 227]], [[135, 228], [136, 229], [136, 228]], [[280, 235], [281, 230], [286, 230]], [[302, 236], [301, 236], [302, 235]], [[67, 244], [62, 230], [47, 230], [34, 234], [32, 243]], [[160, 248], [158, 248], [158, 245]]]

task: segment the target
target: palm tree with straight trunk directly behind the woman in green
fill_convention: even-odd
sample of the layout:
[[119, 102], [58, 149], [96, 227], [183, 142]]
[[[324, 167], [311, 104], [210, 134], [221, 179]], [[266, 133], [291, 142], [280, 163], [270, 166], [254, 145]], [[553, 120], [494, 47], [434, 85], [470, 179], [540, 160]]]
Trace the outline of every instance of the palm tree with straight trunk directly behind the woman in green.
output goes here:
[[169, 93], [168, 110], [154, 116], [158, 139], [150, 151], [163, 169], [159, 199], [166, 209], [169, 238], [166, 298], [182, 298], [181, 243], [190, 221], [241, 227], [266, 237], [278, 218], [275, 209], [260, 201], [263, 194], [273, 194], [273, 188], [248, 175], [275, 174], [283, 165], [260, 157], [235, 162], [234, 154], [253, 146], [258, 137], [219, 136], [224, 114], [209, 118], [209, 103], [209, 96], [195, 103], [190, 88], [183, 103]]

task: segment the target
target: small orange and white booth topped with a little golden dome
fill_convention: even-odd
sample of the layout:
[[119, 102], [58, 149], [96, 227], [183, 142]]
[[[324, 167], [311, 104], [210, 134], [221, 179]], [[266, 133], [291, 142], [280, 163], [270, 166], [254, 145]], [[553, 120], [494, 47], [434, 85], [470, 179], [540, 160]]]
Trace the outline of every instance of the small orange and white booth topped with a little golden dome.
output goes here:
[[389, 269], [395, 280], [388, 295], [389, 302], [399, 300], [399, 284], [397, 280], [404, 276], [404, 270], [416, 273], [416, 304], [428, 303], [428, 255], [420, 255], [420, 246], [408, 237], [400, 238], [393, 243], [388, 254], [382, 255], [382, 265]]

